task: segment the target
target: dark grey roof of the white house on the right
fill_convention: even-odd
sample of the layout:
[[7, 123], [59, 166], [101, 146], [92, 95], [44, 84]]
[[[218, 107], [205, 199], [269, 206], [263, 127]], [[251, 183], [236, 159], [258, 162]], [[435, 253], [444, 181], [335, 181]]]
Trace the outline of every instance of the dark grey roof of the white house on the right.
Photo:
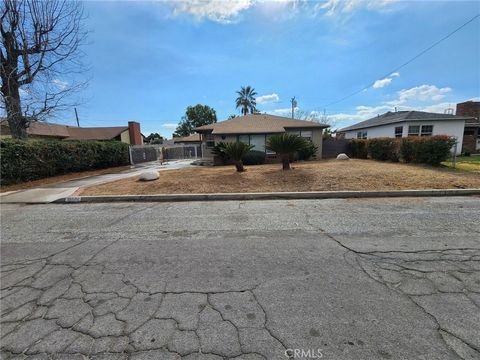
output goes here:
[[349, 130], [358, 130], [365, 129], [369, 127], [375, 127], [380, 125], [395, 124], [403, 121], [433, 121], [433, 120], [470, 120], [474, 119], [471, 116], [457, 116], [451, 114], [437, 114], [424, 111], [397, 111], [397, 112], [386, 112], [380, 116], [361, 121], [357, 124], [344, 127], [343, 129], [337, 130], [337, 132], [345, 132]]

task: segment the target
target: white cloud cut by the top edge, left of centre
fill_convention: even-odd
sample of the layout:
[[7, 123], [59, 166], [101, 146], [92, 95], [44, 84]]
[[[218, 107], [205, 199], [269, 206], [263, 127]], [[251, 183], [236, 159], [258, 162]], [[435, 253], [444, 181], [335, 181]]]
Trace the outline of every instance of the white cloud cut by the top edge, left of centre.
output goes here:
[[238, 15], [253, 4], [254, 0], [181, 0], [173, 2], [173, 13], [185, 13], [198, 20], [209, 19], [228, 24], [235, 22]]

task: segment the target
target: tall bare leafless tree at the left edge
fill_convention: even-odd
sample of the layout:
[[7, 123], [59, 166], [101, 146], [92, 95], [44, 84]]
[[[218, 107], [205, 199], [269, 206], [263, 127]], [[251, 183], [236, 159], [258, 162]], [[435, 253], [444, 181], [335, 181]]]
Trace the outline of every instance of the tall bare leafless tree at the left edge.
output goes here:
[[86, 85], [78, 81], [86, 71], [83, 19], [78, 1], [1, 1], [2, 108], [14, 138], [26, 138], [31, 121], [74, 105], [71, 95]]

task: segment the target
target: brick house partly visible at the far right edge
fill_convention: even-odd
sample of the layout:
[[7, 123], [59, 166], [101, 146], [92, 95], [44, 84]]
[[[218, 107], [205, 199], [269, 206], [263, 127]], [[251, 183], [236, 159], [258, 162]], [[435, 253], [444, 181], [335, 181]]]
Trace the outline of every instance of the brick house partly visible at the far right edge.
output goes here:
[[480, 101], [457, 104], [457, 115], [474, 117], [474, 119], [465, 120], [462, 152], [480, 154]]

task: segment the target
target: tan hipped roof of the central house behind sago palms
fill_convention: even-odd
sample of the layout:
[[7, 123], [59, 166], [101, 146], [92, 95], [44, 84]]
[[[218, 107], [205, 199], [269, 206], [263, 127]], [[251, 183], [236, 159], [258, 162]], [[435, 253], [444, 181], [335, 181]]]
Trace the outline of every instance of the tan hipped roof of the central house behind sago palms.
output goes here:
[[328, 126], [314, 121], [296, 120], [268, 114], [252, 114], [203, 125], [194, 130], [197, 132], [211, 131], [212, 134], [266, 134], [282, 133], [288, 128], [324, 129]]

